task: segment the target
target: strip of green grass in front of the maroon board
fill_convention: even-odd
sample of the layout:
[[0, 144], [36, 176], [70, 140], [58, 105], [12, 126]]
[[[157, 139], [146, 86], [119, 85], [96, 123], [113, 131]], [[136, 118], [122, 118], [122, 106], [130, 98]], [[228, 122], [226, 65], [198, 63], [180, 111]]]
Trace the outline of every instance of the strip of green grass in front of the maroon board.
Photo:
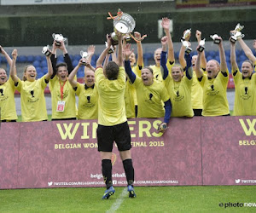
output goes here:
[[[102, 200], [103, 187], [0, 190], [0, 212], [106, 212], [124, 187]], [[219, 204], [255, 203], [256, 186], [136, 187], [137, 198], [122, 200], [116, 212], [255, 211], [256, 207]]]

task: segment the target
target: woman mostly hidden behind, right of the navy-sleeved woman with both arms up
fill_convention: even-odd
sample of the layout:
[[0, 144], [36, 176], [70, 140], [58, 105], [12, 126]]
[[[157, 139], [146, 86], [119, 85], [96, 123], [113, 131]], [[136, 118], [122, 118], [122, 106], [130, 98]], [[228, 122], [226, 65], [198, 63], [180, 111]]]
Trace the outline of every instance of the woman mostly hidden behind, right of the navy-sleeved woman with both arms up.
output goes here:
[[[201, 42], [201, 32], [196, 30], [195, 32], [195, 37], [197, 39], [197, 42]], [[186, 37], [185, 40], [189, 42], [189, 37]], [[178, 60], [180, 65], [183, 67], [183, 71], [186, 70], [186, 60], [184, 58], [185, 55], [185, 47], [182, 45], [179, 55], [178, 55]], [[192, 102], [192, 108], [194, 111], [195, 116], [201, 116], [202, 112], [202, 100], [203, 100], [203, 90], [201, 88], [200, 83], [198, 82], [195, 74], [195, 61], [197, 59], [197, 55], [192, 56], [192, 66], [193, 66], [193, 83], [192, 83], [192, 88], [191, 88], [191, 102]], [[203, 51], [201, 54], [201, 70], [202, 72], [206, 71], [206, 66], [207, 66], [207, 59], [205, 56], [205, 52]]]

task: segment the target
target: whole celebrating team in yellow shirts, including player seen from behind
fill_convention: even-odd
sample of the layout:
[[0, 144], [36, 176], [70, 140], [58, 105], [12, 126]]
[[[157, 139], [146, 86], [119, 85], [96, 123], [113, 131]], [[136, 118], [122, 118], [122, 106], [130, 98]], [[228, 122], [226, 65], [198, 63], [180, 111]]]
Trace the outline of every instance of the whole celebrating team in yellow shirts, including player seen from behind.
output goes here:
[[[0, 68], [1, 122], [17, 120], [16, 89], [20, 92], [22, 121], [47, 120], [44, 89], [49, 83], [52, 120], [98, 119], [98, 151], [101, 153], [102, 174], [107, 186], [102, 199], [108, 199], [115, 192], [111, 173], [113, 141], [123, 160], [129, 197], [136, 197], [127, 118], [163, 118], [159, 130], [164, 132], [171, 117], [230, 115], [226, 94], [229, 70], [222, 38], [216, 37], [220, 63], [217, 60], [207, 61], [199, 44], [197, 55], [193, 56], [187, 51], [188, 47], [181, 45], [177, 64], [169, 31], [170, 20], [163, 18], [161, 24], [166, 36], [161, 38], [161, 48], [154, 51], [154, 66], [143, 66], [143, 39], [139, 32], [134, 33], [137, 38], [137, 58], [131, 44], [126, 43], [119, 33], [117, 47], [111, 51], [113, 43], [107, 35], [106, 49], [96, 61], [96, 67], [90, 65], [95, 52], [93, 45], [87, 50], [89, 56], [81, 58], [78, 65], [73, 67], [65, 43], [54, 41], [50, 54], [45, 56], [48, 73], [38, 79], [36, 68], [32, 65], [26, 66], [23, 79], [18, 78], [17, 50], [13, 50], [11, 59], [0, 46], [1, 54], [10, 66], [9, 78], [7, 72]], [[184, 37], [187, 43], [189, 37], [190, 34]], [[195, 37], [200, 43], [201, 32], [196, 31]], [[237, 43], [248, 58], [241, 67], [236, 64]], [[255, 42], [253, 48], [256, 49]], [[65, 62], [56, 63], [57, 49], [62, 51]], [[236, 86], [233, 115], [256, 115], [256, 75], [253, 74], [256, 58], [241, 37], [236, 42], [230, 41], [230, 63]], [[81, 66], [84, 66], [84, 84], [76, 78]], [[78, 106], [75, 95], [79, 97]]]

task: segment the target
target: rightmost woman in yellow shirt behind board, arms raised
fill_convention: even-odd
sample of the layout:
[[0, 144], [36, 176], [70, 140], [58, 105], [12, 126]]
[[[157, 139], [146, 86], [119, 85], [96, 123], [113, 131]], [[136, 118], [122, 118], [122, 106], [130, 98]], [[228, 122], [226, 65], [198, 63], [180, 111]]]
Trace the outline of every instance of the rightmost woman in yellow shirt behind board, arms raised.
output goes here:
[[[236, 44], [230, 42], [230, 62], [236, 87], [234, 116], [256, 115], [256, 75], [253, 74], [253, 62], [245, 60], [241, 64], [241, 72], [236, 64]], [[244, 43], [241, 44], [244, 46]], [[249, 51], [248, 51], [249, 52]], [[250, 58], [255, 58], [250, 55]], [[254, 60], [255, 63], [256, 60]]]

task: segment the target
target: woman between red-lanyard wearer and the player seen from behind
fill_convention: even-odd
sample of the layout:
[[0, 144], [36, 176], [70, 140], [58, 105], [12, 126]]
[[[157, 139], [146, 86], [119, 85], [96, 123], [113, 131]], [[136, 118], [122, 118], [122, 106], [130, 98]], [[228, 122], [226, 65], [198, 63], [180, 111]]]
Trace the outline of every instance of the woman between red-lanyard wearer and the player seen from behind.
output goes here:
[[[94, 46], [88, 48], [88, 54], [94, 54]], [[90, 57], [91, 59], [91, 57]], [[73, 69], [68, 76], [68, 81], [72, 85], [74, 91], [79, 96], [78, 119], [97, 119], [98, 118], [98, 92], [95, 86], [95, 68], [90, 65], [90, 59], [79, 60], [79, 64]], [[84, 68], [84, 84], [74, 80], [75, 75], [79, 71], [80, 66]]]

